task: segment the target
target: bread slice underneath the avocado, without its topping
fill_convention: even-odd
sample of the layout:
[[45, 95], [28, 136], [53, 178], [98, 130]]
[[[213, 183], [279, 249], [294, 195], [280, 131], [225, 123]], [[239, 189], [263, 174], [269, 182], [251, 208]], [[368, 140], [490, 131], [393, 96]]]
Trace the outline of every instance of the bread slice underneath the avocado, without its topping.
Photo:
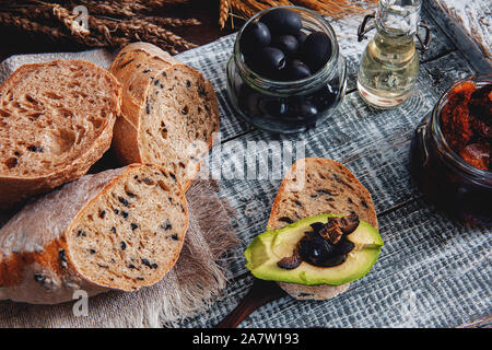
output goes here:
[[[353, 214], [377, 229], [371, 194], [342, 164], [320, 158], [298, 160], [280, 185], [268, 230], [278, 230], [301, 219], [323, 213]], [[295, 299], [326, 300], [344, 292], [341, 285], [302, 285], [279, 282]]]

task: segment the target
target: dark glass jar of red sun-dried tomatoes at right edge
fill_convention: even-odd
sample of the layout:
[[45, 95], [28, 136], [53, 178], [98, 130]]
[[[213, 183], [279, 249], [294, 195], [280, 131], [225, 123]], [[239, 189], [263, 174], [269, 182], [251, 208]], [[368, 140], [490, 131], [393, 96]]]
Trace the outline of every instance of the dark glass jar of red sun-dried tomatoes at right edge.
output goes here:
[[492, 226], [492, 75], [455, 83], [417, 130], [411, 172], [452, 219]]

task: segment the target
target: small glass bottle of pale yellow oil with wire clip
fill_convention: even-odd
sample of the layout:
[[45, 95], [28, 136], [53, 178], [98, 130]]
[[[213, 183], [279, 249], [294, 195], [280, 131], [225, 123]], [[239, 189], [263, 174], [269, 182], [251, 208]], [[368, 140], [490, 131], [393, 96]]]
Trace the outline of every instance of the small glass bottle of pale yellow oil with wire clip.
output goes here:
[[379, 0], [377, 33], [362, 55], [358, 90], [370, 105], [393, 108], [412, 93], [419, 73], [414, 34], [421, 0]]

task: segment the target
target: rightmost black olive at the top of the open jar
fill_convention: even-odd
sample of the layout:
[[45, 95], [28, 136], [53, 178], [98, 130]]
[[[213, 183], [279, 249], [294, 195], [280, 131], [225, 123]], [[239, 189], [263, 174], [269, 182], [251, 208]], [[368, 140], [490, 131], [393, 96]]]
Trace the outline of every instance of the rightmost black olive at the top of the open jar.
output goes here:
[[312, 72], [323, 68], [331, 57], [331, 40], [323, 32], [314, 32], [307, 36], [301, 47], [301, 59]]

